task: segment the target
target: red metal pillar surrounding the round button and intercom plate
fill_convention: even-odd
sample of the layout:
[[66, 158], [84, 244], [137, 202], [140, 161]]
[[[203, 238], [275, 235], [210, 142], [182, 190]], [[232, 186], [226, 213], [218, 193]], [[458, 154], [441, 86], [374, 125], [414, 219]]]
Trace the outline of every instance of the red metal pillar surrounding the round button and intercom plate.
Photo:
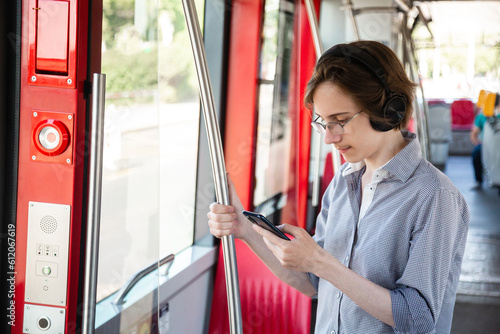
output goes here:
[[[74, 333], [77, 323], [77, 302], [79, 300], [80, 241], [82, 235], [82, 213], [85, 154], [84, 81], [87, 77], [87, 44], [89, 2], [70, 0], [68, 75], [48, 75], [36, 73], [34, 67], [34, 22], [38, 4], [35, 0], [24, 0], [22, 4], [22, 54], [21, 54], [21, 99], [19, 133], [19, 180], [17, 198], [16, 229], [16, 285], [15, 285], [15, 326], [13, 334], [23, 333], [24, 288], [26, 274], [28, 202], [45, 202], [71, 205], [71, 225], [69, 240], [68, 290], [65, 333]], [[35, 9], [34, 9], [35, 8]], [[101, 12], [102, 15], [102, 12]], [[99, 19], [100, 20], [100, 19]], [[93, 37], [94, 38], [94, 37]], [[100, 38], [100, 36], [99, 36]], [[76, 52], [78, 50], [78, 53]], [[100, 49], [97, 50], [100, 52]], [[35, 53], [36, 56], [36, 53]], [[60, 71], [56, 65], [55, 72]], [[37, 76], [35, 81], [31, 80]], [[71, 83], [68, 82], [71, 79]], [[38, 122], [33, 122], [33, 112], [49, 115], [65, 124], [68, 128], [68, 152], [73, 158], [71, 163], [40, 162], [32, 159], [33, 131]], [[48, 114], [47, 114], [48, 113]], [[72, 116], [73, 125], [66, 122]], [[62, 118], [60, 116], [63, 116]], [[33, 124], [35, 123], [35, 124]], [[41, 156], [42, 154], [40, 154]], [[60, 156], [60, 155], [58, 155]], [[50, 158], [50, 156], [46, 156]], [[66, 158], [68, 159], [68, 158]]]

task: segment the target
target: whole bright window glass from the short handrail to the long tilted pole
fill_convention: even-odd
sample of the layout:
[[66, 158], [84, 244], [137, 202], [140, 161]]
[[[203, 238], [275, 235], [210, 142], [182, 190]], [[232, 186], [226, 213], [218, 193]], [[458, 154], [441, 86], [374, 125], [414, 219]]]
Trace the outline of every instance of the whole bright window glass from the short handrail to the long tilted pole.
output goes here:
[[[98, 301], [134, 273], [192, 245], [200, 114], [182, 3], [103, 5]], [[199, 17], [203, 5], [196, 1]]]

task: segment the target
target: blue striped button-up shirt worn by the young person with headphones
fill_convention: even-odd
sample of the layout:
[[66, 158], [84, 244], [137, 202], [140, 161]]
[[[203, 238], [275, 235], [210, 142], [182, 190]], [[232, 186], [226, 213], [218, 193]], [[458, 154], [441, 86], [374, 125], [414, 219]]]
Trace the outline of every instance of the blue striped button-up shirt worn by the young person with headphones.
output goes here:
[[390, 290], [395, 327], [309, 274], [318, 334], [450, 332], [469, 211], [448, 177], [422, 158], [415, 134], [402, 133], [408, 144], [373, 173], [362, 200], [364, 162], [342, 166], [314, 235], [346, 267]]

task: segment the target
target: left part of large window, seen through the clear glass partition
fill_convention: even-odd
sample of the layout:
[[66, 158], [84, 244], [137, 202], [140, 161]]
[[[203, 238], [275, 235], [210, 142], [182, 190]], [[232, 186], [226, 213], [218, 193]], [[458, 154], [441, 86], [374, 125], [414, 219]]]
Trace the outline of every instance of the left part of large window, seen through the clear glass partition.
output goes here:
[[106, 74], [97, 300], [158, 259], [156, 2], [105, 0]]

